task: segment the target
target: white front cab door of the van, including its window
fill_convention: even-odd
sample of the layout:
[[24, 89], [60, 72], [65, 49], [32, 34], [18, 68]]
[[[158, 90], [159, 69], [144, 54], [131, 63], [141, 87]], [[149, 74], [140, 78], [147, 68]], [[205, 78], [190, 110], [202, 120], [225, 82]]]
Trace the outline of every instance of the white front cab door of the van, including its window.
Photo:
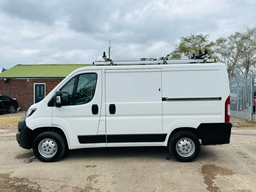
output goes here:
[[102, 70], [79, 72], [59, 90], [61, 107], [53, 107], [52, 126], [66, 132], [71, 147], [94, 145], [101, 114]]

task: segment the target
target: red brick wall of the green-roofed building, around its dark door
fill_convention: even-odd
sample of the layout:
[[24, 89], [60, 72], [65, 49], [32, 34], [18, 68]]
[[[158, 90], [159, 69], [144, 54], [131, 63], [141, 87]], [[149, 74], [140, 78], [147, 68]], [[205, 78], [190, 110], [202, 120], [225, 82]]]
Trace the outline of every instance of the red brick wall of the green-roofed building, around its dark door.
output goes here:
[[15, 98], [21, 110], [26, 111], [34, 104], [34, 84], [45, 83], [45, 95], [47, 95], [59, 82], [60, 79], [0, 79], [0, 94]]

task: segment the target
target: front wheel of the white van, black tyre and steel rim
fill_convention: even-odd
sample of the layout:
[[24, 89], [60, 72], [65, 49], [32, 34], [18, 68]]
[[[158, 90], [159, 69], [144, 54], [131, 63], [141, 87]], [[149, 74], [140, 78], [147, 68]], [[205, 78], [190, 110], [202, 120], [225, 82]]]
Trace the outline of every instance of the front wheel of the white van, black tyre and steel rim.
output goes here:
[[56, 132], [48, 131], [37, 136], [33, 143], [33, 152], [42, 162], [56, 162], [66, 151], [63, 137]]

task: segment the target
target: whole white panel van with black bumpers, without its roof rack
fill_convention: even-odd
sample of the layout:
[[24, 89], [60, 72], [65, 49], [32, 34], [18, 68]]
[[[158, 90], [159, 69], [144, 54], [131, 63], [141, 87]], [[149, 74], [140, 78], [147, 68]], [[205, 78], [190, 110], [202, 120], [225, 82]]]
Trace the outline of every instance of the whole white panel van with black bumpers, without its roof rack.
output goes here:
[[201, 145], [230, 142], [229, 115], [224, 64], [98, 65], [76, 69], [32, 105], [16, 137], [43, 162], [121, 146], [168, 146], [189, 162]]

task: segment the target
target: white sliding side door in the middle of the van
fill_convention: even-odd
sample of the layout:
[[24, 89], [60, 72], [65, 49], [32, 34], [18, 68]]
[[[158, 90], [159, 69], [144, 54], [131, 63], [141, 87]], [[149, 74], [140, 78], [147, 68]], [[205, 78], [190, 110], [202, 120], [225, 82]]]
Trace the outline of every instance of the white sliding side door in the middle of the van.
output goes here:
[[107, 145], [162, 144], [161, 69], [105, 70]]

